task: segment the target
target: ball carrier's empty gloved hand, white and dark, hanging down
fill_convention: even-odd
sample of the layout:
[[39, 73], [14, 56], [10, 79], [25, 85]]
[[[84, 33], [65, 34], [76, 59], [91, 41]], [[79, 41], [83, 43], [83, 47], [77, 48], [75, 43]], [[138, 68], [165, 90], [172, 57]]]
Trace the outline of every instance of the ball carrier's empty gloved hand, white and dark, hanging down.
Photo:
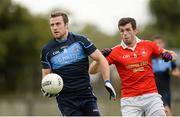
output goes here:
[[109, 92], [109, 99], [111, 100], [111, 98], [116, 99], [116, 92], [111, 84], [110, 80], [106, 80], [104, 81], [104, 85], [107, 89], [107, 91]]

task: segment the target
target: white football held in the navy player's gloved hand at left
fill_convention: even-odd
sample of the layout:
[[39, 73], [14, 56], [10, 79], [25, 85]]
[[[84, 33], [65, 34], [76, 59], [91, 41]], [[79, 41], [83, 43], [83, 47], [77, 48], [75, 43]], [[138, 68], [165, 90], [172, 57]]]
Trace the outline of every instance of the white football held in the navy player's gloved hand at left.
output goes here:
[[41, 86], [47, 93], [58, 94], [63, 89], [63, 80], [58, 74], [50, 73], [42, 79]]

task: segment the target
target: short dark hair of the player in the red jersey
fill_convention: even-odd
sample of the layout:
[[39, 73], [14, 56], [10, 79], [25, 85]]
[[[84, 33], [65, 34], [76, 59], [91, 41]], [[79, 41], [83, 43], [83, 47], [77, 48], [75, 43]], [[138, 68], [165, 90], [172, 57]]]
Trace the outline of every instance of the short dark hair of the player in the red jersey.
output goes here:
[[128, 23], [131, 23], [132, 28], [136, 29], [136, 20], [134, 18], [130, 18], [130, 17], [121, 18], [118, 22], [118, 28], [120, 28], [120, 26], [124, 26]]

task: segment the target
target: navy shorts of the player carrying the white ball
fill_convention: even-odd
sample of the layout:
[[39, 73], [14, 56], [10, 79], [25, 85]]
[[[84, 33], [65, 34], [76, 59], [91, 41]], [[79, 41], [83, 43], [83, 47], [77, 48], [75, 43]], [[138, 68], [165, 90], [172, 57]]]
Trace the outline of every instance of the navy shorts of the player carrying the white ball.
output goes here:
[[56, 99], [63, 116], [100, 116], [97, 98], [89, 89], [79, 95], [59, 95]]

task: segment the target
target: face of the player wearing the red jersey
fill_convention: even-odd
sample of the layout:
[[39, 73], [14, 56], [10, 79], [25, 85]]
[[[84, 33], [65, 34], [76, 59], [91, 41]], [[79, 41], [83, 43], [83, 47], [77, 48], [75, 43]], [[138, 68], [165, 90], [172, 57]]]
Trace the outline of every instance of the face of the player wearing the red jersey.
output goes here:
[[119, 27], [120, 37], [127, 46], [133, 46], [137, 30], [132, 28], [131, 23]]

